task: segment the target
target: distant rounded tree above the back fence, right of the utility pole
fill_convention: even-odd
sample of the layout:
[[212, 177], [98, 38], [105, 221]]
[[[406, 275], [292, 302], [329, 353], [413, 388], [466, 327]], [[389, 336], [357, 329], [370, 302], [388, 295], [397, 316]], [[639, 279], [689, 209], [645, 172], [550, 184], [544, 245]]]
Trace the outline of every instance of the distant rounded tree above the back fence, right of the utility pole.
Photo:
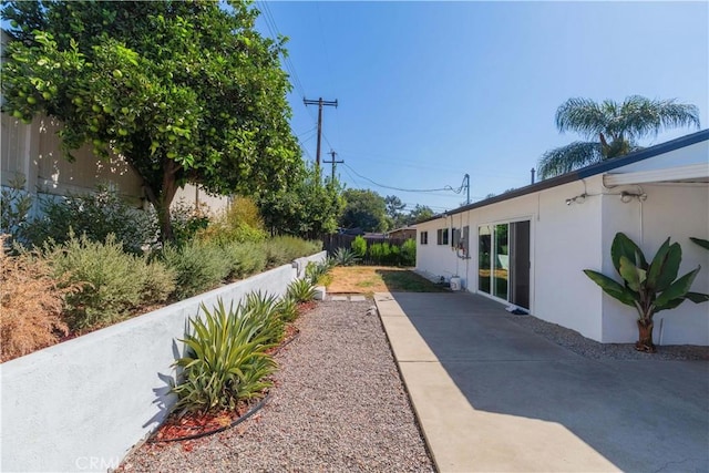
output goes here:
[[341, 226], [361, 228], [364, 232], [387, 232], [387, 203], [384, 197], [370, 189], [347, 189]]

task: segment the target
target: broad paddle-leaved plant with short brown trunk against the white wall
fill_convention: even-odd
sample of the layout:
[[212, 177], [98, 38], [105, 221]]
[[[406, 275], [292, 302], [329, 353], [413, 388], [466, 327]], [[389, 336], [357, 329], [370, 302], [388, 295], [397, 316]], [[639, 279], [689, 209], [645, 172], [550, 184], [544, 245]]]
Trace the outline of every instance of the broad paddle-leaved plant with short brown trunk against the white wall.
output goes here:
[[670, 245], [669, 238], [648, 264], [643, 250], [625, 234], [617, 233], [610, 257], [624, 284], [590, 269], [584, 269], [584, 273], [606, 294], [637, 309], [639, 337], [635, 348], [639, 351], [656, 351], [653, 343], [655, 313], [674, 309], [685, 299], [695, 304], [709, 300], [709, 295], [689, 291], [700, 267], [677, 278], [682, 250], [678, 243]]

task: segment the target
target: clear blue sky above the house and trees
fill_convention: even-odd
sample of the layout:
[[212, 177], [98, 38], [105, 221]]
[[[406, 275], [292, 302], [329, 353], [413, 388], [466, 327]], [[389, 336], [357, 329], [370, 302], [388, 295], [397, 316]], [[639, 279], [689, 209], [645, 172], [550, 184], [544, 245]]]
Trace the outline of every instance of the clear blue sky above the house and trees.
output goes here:
[[[547, 150], [575, 141], [554, 124], [573, 96], [677, 99], [709, 125], [708, 2], [261, 2], [289, 38], [294, 132], [315, 160], [333, 148], [353, 188], [441, 212], [530, 183]], [[266, 17], [264, 14], [263, 17]], [[261, 18], [257, 27], [273, 30]], [[296, 82], [294, 80], [294, 82]], [[690, 133], [651, 137], [651, 145]], [[323, 160], [330, 156], [323, 154]], [[326, 168], [329, 172], [329, 165]], [[368, 181], [370, 179], [370, 181]]]

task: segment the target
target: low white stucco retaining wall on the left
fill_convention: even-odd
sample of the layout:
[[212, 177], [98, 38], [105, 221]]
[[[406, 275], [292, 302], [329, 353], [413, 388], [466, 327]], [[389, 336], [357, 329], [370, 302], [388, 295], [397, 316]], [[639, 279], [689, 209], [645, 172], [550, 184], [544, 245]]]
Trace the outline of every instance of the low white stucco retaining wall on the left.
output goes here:
[[[144, 316], [0, 364], [0, 471], [106, 471], [175, 402], [172, 363], [201, 304], [253, 290], [281, 296], [321, 251]], [[295, 267], [294, 267], [295, 266]]]

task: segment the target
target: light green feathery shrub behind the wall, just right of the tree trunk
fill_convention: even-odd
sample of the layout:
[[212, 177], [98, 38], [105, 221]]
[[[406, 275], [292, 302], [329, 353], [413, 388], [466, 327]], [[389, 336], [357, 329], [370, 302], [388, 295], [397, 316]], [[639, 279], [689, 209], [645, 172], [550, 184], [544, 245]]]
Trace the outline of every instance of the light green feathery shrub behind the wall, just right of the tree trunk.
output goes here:
[[160, 257], [175, 273], [178, 299], [216, 288], [232, 270], [232, 264], [219, 246], [196, 239], [182, 247], [165, 245]]

